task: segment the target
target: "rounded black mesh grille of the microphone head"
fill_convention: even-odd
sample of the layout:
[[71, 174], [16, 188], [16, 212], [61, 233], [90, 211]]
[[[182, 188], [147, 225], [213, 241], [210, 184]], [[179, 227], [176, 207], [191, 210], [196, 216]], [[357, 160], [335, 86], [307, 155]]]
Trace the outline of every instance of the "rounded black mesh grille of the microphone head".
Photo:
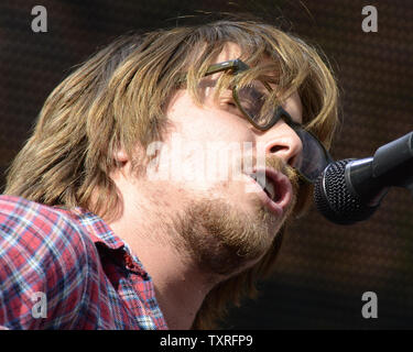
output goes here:
[[345, 169], [351, 161], [348, 158], [329, 164], [314, 185], [314, 202], [318, 211], [338, 224], [366, 220], [377, 209], [362, 204], [359, 197], [349, 191]]

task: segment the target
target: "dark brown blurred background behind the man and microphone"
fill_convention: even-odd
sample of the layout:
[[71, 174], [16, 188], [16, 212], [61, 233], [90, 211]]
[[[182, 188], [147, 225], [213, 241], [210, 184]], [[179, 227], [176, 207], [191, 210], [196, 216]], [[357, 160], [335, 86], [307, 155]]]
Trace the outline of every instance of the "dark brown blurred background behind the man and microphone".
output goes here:
[[[47, 10], [33, 33], [31, 10]], [[365, 6], [378, 32], [365, 33]], [[47, 95], [96, 48], [133, 29], [188, 23], [197, 11], [253, 12], [317, 45], [341, 88], [333, 156], [370, 156], [413, 131], [413, 2], [402, 0], [4, 1], [0, 3], [0, 186]], [[257, 301], [230, 311], [227, 329], [412, 329], [413, 197], [392, 189], [368, 221], [340, 227], [314, 209], [285, 239]], [[365, 292], [378, 319], [363, 319]]]

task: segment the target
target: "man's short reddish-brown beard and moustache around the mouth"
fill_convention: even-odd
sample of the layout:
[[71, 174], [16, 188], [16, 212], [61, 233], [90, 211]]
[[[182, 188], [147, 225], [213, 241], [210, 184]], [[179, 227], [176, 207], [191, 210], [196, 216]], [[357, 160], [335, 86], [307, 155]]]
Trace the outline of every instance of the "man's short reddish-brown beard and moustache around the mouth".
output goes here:
[[293, 186], [293, 199], [281, 219], [253, 194], [252, 212], [224, 198], [202, 198], [192, 201], [174, 219], [174, 229], [180, 233], [175, 250], [189, 255], [203, 273], [228, 277], [252, 266], [272, 248], [281, 227], [291, 217], [297, 190], [296, 174], [279, 158], [270, 158], [265, 165], [283, 172]]

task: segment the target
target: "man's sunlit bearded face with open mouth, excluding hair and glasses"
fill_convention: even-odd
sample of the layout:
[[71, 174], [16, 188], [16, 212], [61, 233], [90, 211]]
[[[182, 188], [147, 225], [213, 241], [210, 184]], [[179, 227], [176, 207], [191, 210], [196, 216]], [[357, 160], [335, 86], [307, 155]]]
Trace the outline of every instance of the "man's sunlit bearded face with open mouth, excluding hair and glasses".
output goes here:
[[[228, 44], [216, 62], [240, 54]], [[290, 215], [294, 177], [291, 168], [284, 170], [290, 179], [280, 169], [294, 165], [302, 143], [283, 120], [264, 132], [254, 129], [235, 106], [231, 90], [215, 99], [210, 82], [219, 75], [199, 85], [202, 106], [186, 89], [170, 101], [169, 134], [146, 151], [156, 158], [146, 169], [145, 187], [155, 204], [169, 205], [159, 215], [181, 234], [177, 250], [189, 250], [205, 271], [228, 275], [262, 257]], [[283, 108], [302, 121], [297, 94]], [[250, 177], [263, 166], [264, 189]]]

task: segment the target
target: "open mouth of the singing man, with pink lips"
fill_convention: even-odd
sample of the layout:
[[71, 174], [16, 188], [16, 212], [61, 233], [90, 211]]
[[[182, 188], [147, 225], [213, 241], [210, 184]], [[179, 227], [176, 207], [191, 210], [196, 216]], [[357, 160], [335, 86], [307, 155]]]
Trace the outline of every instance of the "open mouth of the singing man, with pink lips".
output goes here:
[[253, 182], [260, 187], [259, 197], [274, 213], [282, 215], [292, 199], [292, 186], [289, 178], [273, 168], [254, 169], [250, 173]]

